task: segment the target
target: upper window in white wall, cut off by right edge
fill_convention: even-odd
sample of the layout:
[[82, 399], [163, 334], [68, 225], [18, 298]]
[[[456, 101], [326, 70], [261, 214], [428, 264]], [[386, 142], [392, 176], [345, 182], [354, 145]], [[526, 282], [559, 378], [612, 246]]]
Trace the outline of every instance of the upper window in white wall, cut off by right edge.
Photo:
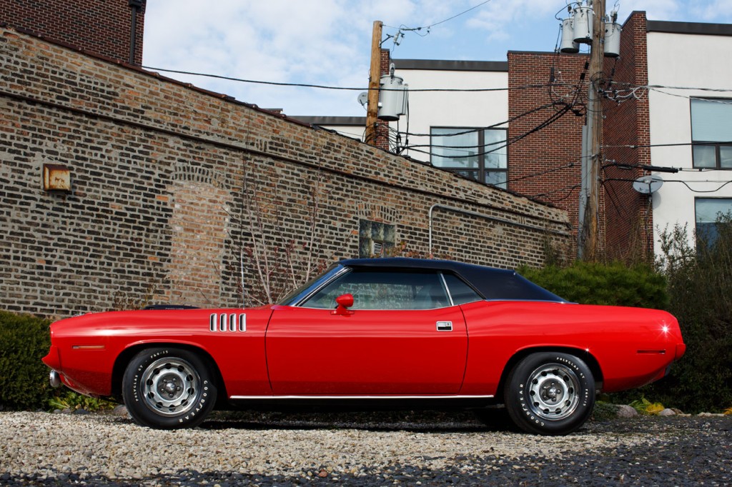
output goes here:
[[732, 99], [692, 99], [691, 138], [694, 167], [732, 169]]

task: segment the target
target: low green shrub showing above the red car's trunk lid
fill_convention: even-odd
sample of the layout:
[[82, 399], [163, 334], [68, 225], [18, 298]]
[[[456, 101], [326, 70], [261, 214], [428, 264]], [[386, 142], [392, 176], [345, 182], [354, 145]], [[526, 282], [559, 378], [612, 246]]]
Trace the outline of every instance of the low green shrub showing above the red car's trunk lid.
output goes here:
[[520, 268], [519, 273], [568, 301], [664, 309], [666, 279], [651, 265], [575, 262], [566, 268]]

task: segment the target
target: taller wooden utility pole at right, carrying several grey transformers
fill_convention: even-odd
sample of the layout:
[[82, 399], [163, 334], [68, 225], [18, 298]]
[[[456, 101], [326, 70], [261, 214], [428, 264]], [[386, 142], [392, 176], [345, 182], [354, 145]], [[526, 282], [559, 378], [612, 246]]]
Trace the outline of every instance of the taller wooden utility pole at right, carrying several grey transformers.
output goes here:
[[[597, 93], [596, 83], [602, 77], [602, 58], [605, 56], [605, 0], [593, 3], [592, 47], [590, 49], [587, 137], [589, 153], [587, 181], [587, 202], [582, 222], [580, 257], [583, 260], [597, 258], [600, 235], [598, 214], [600, 211], [600, 167], [602, 166], [602, 97]], [[583, 195], [584, 197], [585, 195]]]

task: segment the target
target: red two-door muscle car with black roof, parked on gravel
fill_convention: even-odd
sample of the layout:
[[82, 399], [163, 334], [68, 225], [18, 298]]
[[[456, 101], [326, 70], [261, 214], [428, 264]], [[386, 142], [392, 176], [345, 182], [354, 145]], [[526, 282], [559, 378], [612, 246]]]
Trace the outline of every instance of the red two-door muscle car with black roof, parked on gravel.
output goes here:
[[343, 260], [275, 305], [184, 308], [54, 322], [51, 382], [160, 429], [214, 407], [504, 404], [525, 431], [567, 434], [597, 392], [660, 379], [686, 349], [667, 312], [569, 303], [445, 260]]

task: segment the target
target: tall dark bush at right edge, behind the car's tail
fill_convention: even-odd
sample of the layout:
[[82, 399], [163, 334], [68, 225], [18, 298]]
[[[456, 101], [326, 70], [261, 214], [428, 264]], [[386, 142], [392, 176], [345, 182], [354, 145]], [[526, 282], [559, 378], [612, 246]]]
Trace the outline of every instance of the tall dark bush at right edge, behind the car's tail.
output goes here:
[[732, 406], [732, 219], [717, 220], [713, 243], [689, 244], [685, 227], [661, 233], [660, 268], [668, 279], [668, 311], [679, 320], [687, 352], [671, 375], [643, 393], [684, 412]]

